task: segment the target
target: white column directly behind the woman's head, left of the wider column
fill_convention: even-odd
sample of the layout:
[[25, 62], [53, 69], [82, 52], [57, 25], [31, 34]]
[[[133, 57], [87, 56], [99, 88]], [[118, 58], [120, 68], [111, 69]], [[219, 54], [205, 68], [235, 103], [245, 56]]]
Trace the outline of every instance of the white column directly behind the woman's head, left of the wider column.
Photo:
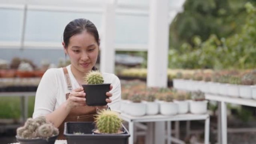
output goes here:
[[114, 73], [115, 69], [115, 10], [116, 0], [107, 0], [100, 37], [100, 70], [106, 73]]

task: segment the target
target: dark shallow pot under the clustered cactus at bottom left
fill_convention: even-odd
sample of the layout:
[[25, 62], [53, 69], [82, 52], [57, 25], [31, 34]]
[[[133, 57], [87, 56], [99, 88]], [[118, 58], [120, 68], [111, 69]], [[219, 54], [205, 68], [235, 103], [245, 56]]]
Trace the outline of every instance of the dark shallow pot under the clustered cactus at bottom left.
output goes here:
[[54, 137], [50, 137], [48, 139], [43, 138], [19, 138], [16, 136], [16, 140], [19, 142], [19, 144], [54, 144], [55, 140], [57, 139], [58, 135], [55, 135]]

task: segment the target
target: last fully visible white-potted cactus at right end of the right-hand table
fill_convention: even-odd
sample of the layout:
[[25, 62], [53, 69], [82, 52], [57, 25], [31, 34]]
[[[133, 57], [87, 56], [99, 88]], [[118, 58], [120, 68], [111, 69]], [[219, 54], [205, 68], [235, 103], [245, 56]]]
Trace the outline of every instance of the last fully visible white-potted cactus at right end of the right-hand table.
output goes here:
[[239, 86], [239, 94], [241, 98], [252, 98], [252, 85], [256, 81], [256, 76], [253, 73], [244, 74], [241, 78]]

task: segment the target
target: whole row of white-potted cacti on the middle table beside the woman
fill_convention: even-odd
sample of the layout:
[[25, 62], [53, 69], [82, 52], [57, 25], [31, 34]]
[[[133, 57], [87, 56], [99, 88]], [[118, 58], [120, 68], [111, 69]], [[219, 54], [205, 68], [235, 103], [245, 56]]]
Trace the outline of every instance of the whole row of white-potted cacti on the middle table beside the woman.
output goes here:
[[207, 101], [201, 91], [189, 94], [171, 89], [159, 89], [158, 92], [147, 91], [146, 94], [135, 93], [128, 97], [129, 94], [122, 94], [121, 111], [131, 116], [207, 112]]

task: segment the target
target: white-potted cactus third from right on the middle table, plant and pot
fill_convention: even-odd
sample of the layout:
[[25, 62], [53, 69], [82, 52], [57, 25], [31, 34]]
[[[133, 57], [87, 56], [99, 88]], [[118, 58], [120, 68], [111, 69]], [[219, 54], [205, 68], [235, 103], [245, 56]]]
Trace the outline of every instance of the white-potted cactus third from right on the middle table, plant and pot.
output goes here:
[[173, 93], [164, 96], [164, 101], [159, 101], [160, 113], [163, 115], [175, 115], [178, 113], [178, 104], [173, 102]]

